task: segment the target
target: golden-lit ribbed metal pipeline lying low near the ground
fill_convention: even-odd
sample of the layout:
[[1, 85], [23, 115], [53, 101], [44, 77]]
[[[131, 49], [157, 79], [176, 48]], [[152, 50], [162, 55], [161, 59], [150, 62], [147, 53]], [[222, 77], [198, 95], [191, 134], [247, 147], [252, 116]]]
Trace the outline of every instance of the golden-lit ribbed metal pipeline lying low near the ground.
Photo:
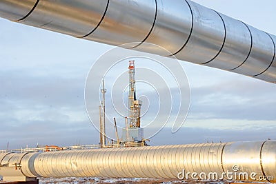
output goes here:
[[[214, 179], [266, 178], [262, 181], [275, 182], [275, 158], [276, 141], [10, 153], [0, 154], [0, 175], [7, 175], [3, 167], [19, 165], [22, 174], [28, 177], [177, 178], [184, 174], [186, 178], [186, 174], [194, 172], [197, 176], [193, 177], [201, 178], [199, 174], [204, 172], [206, 176], [216, 173]], [[10, 171], [17, 172], [18, 168]], [[232, 175], [226, 175], [231, 172]], [[240, 173], [248, 177], [237, 177]]]

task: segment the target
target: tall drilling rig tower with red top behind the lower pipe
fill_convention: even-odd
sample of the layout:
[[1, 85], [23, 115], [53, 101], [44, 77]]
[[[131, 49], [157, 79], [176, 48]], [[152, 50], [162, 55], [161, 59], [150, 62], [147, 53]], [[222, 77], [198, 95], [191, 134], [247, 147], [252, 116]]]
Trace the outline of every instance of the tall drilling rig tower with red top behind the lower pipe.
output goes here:
[[126, 127], [123, 128], [122, 141], [142, 142], [144, 141], [144, 129], [140, 127], [142, 101], [136, 98], [135, 61], [129, 61], [128, 76], [128, 117], [126, 117]]

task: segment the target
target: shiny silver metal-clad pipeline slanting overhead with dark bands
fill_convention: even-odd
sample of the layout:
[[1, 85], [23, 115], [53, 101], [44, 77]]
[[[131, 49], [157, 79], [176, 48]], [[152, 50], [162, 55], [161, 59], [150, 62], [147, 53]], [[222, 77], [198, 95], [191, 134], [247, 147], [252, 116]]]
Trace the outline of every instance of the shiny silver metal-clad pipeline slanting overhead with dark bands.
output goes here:
[[3, 0], [0, 17], [276, 83], [276, 37], [189, 0]]

